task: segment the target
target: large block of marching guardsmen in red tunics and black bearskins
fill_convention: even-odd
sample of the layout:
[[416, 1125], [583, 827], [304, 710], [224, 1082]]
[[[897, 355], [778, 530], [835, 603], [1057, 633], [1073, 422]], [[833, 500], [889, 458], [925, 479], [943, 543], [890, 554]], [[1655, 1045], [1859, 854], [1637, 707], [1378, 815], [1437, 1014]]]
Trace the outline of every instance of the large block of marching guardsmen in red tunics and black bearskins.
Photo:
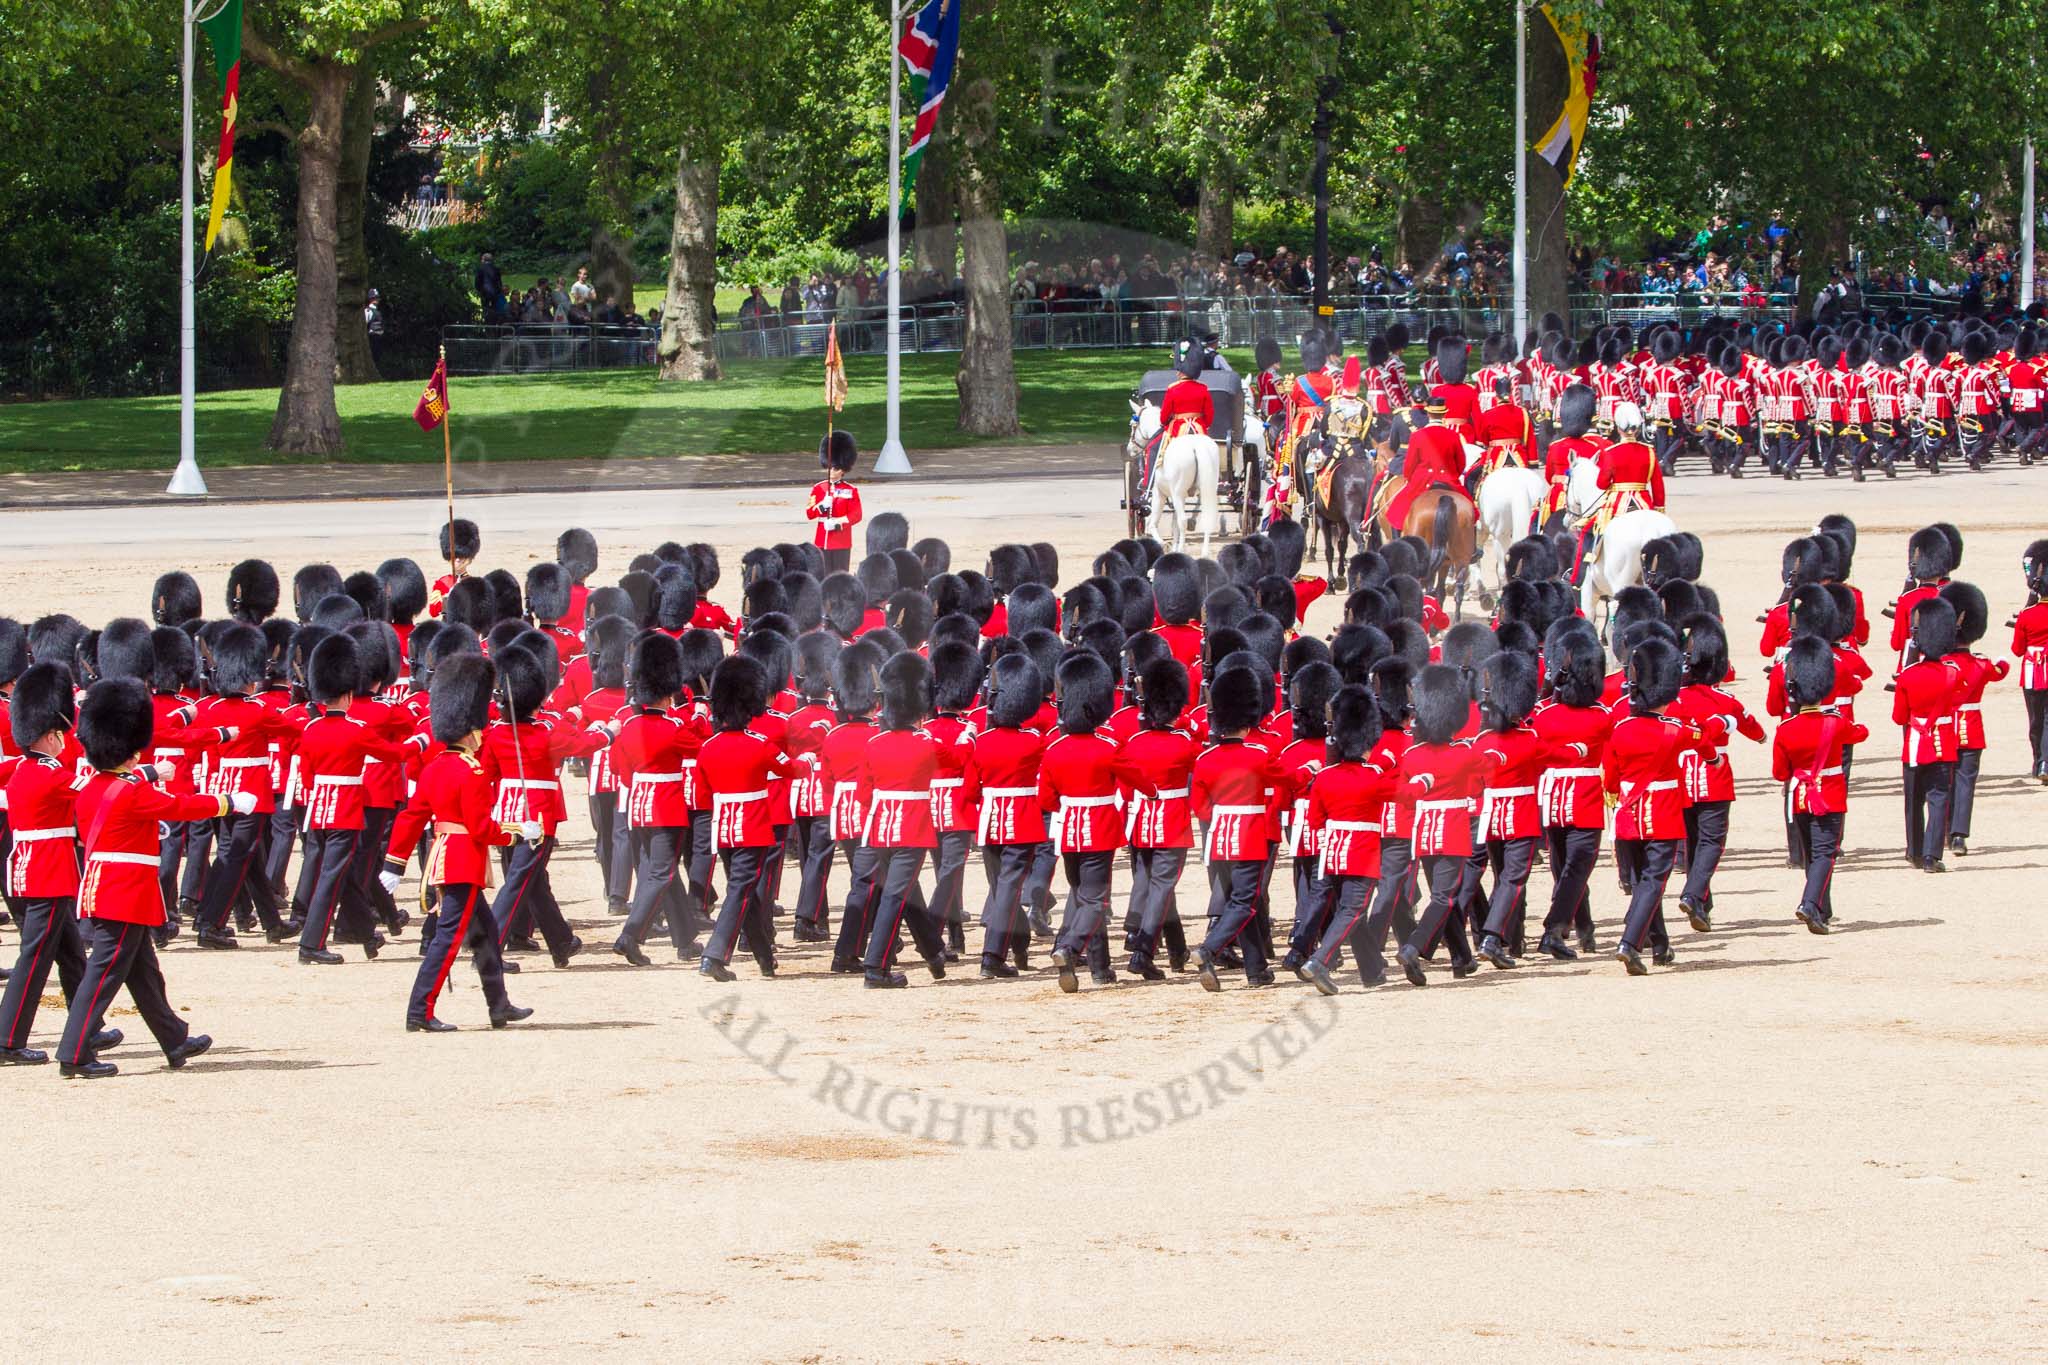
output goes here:
[[[1741, 377], [1749, 354], [1726, 338], [1714, 372]], [[1667, 393], [1645, 381], [1651, 413]], [[1561, 407], [1604, 401], [1599, 385], [1559, 391]], [[1804, 436], [1784, 446], [1808, 454]], [[741, 954], [774, 976], [788, 943], [829, 943], [831, 972], [901, 988], [905, 931], [934, 978], [975, 956], [979, 976], [1014, 978], [1044, 950], [1067, 993], [1083, 972], [1100, 986], [1192, 972], [1219, 990], [1229, 972], [1268, 986], [1276, 968], [1337, 993], [1346, 964], [1386, 982], [1389, 952], [1417, 986], [1440, 954], [1452, 976], [1602, 952], [1647, 974], [1677, 956], [1667, 892], [1694, 933], [1714, 931], [1735, 774], [1765, 741], [1800, 870], [1788, 913], [1812, 933], [1835, 923], [1872, 733], [1855, 702], [1876, 673], [1843, 516], [1786, 546], [1784, 591], [1759, 618], [1767, 737], [1724, 690], [1737, 651], [1694, 536], [1645, 548], [1612, 645], [1567, 583], [1571, 540], [1544, 534], [1509, 551], [1485, 622], [1432, 618], [1417, 540], [1360, 553], [1341, 624], [1317, 639], [1303, 614], [1331, 585], [1303, 575], [1294, 520], [1212, 561], [1116, 540], [1063, 589], [1053, 546], [956, 567], [944, 540], [911, 542], [883, 512], [862, 524], [864, 557], [829, 571], [860, 522], [854, 442], [838, 432], [819, 458], [813, 540], [748, 551], [735, 612], [713, 600], [729, 579], [709, 544], [657, 544], [604, 583], [596, 540], [567, 530], [518, 579], [479, 571], [479, 528], [457, 520], [432, 585], [410, 559], [307, 565], [287, 604], [252, 559], [217, 616], [172, 571], [150, 620], [0, 620], [20, 933], [0, 1060], [49, 1060], [31, 1038], [55, 972], [61, 1074], [113, 1074], [102, 1054], [125, 1040], [104, 1015], [123, 986], [184, 1066], [209, 1038], [168, 1005], [166, 960], [260, 933], [336, 968], [338, 950], [387, 950], [408, 907], [422, 921], [406, 1027], [455, 1027], [440, 1007], [463, 952], [489, 1025], [516, 1023], [530, 1015], [508, 984], [520, 968], [543, 948], [557, 970], [586, 954], [553, 876], [578, 786], [594, 831], [578, 857], [596, 862], [610, 954], [649, 966], [666, 935], [717, 980]], [[1985, 696], [2009, 671], [1974, 653], [1989, 606], [1960, 565], [1952, 526], [1913, 534], [1886, 608], [1905, 855], [1923, 872], [1968, 851]], [[2048, 540], [2028, 553], [2025, 593], [2011, 653], [2032, 774], [2048, 782]], [[1593, 872], [1610, 837], [1626, 915], [1602, 943]], [[979, 902], [965, 888], [977, 847]]]

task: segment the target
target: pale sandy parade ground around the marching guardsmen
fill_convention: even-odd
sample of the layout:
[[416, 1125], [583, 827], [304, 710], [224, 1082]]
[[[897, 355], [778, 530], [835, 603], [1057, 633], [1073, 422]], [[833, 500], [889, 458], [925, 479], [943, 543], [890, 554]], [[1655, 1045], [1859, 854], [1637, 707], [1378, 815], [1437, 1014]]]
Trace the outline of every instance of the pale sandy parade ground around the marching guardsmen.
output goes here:
[[[1749, 620], [1827, 510], [1864, 528], [1872, 610], [1907, 534], [1958, 522], [2003, 647], [2044, 477], [1677, 481], [1737, 692], [1761, 708]], [[1051, 538], [1071, 581], [1118, 534], [1114, 497], [991, 477], [901, 485], [870, 514], [887, 501], [971, 563]], [[705, 536], [735, 573], [795, 530], [797, 499], [467, 512], [492, 565], [573, 522], [608, 571]], [[426, 561], [436, 520], [434, 501], [10, 514], [0, 604], [141, 614], [176, 565], [211, 606], [244, 555], [287, 575]], [[1333, 620], [1325, 602], [1311, 624]], [[911, 990], [872, 995], [813, 945], [778, 980], [739, 962], [731, 986], [666, 952], [639, 972], [543, 956], [514, 980], [530, 1023], [483, 1027], [463, 966], [444, 1009], [463, 1031], [424, 1038], [401, 1031], [412, 933], [332, 970], [180, 941], [172, 999], [211, 1056], [172, 1074], [137, 1040], [102, 1085], [0, 1072], [0, 1340], [12, 1359], [2040, 1357], [2048, 790], [2021, 776], [2013, 684], [1987, 710], [1972, 855], [1942, 880], [1901, 860], [1896, 733], [1876, 726], [1833, 937], [1792, 921], [1767, 757], [1739, 747], [1718, 927], [1679, 919], [1679, 966], [1647, 980], [1589, 960], [1335, 1001], [1192, 976], [1061, 997], [1042, 970], [913, 966]], [[1866, 712], [1882, 722], [1882, 696]], [[606, 941], [582, 819], [555, 866]], [[1612, 943], [1610, 864], [1593, 892]], [[51, 986], [37, 1042], [59, 1027]]]

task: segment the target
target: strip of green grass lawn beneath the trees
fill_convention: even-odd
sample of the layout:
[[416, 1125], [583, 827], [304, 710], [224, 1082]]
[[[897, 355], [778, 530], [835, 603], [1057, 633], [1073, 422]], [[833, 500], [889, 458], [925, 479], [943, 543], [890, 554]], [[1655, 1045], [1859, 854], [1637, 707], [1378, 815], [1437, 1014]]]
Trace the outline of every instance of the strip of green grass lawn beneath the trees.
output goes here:
[[[903, 356], [903, 442], [915, 450], [975, 444], [954, 430], [958, 356]], [[1122, 440], [1137, 377], [1163, 352], [1018, 352], [1024, 440]], [[862, 450], [883, 442], [883, 358], [846, 362], [840, 426]], [[819, 360], [741, 360], [715, 385], [662, 385], [651, 370], [453, 381], [459, 460], [563, 460], [815, 450], [823, 434]], [[340, 391], [342, 434], [354, 463], [432, 463], [440, 440], [412, 420], [420, 383]], [[281, 465], [262, 448], [274, 389], [199, 395], [201, 465]], [[178, 399], [90, 399], [0, 405], [0, 473], [170, 469], [178, 458]]]

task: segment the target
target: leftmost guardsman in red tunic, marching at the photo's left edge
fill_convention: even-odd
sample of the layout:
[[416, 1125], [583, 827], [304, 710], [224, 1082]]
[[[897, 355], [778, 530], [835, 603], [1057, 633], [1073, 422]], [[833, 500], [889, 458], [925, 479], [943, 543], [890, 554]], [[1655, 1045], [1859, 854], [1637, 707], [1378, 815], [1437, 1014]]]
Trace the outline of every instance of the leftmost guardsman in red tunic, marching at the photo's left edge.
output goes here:
[[[14, 622], [6, 622], [14, 624]], [[18, 630], [18, 626], [16, 626]], [[78, 741], [72, 673], [57, 663], [37, 663], [12, 686], [8, 741], [16, 749], [0, 759], [6, 776], [6, 814], [14, 835], [6, 855], [6, 898], [20, 927], [20, 956], [0, 995], [0, 1064], [37, 1066], [49, 1060], [29, 1046], [49, 970], [70, 1003], [86, 970], [78, 933]], [[92, 1040], [102, 1052], [121, 1044], [109, 1029]]]

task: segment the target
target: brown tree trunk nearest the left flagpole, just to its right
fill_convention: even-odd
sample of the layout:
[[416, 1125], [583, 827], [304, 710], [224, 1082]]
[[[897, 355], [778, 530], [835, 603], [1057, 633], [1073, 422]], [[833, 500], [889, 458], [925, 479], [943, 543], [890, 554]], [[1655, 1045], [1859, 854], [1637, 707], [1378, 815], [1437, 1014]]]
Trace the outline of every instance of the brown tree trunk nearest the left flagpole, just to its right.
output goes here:
[[289, 454], [338, 454], [344, 448], [342, 415], [334, 407], [334, 196], [350, 76], [350, 68], [322, 61], [301, 82], [309, 108], [299, 131], [299, 299], [285, 352], [285, 387], [264, 442]]

